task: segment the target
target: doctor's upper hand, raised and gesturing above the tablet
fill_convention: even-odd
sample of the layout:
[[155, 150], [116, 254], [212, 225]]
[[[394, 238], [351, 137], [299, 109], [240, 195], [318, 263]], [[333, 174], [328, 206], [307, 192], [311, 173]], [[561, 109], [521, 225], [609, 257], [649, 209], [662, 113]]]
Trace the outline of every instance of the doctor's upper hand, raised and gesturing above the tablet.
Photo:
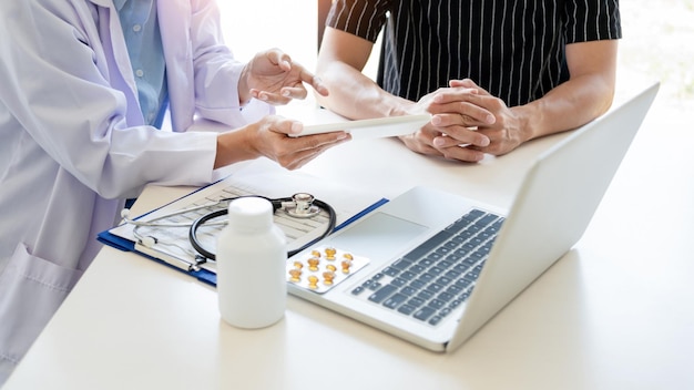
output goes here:
[[306, 98], [308, 92], [304, 83], [327, 96], [328, 90], [320, 79], [300, 64], [292, 62], [286, 53], [272, 49], [257, 53], [244, 66], [238, 81], [238, 95], [242, 104], [247, 103], [251, 98], [273, 105], [287, 104], [293, 99]]

